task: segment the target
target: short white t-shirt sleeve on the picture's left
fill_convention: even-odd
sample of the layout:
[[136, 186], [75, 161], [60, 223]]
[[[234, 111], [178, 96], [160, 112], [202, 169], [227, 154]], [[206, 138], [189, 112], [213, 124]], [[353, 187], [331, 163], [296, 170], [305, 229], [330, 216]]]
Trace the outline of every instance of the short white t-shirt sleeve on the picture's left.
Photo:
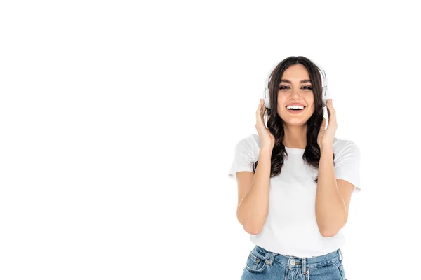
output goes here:
[[247, 145], [246, 139], [239, 141], [234, 148], [234, 160], [232, 160], [231, 168], [229, 169], [229, 178], [236, 180], [236, 172], [253, 171], [255, 157], [250, 146]]

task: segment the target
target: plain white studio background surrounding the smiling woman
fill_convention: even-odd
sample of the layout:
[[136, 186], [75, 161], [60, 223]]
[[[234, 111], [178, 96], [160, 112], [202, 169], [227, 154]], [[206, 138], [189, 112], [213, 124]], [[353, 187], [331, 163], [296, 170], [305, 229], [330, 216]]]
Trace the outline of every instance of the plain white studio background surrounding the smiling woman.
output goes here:
[[0, 279], [240, 279], [228, 178], [267, 72], [326, 71], [361, 149], [348, 280], [416, 278], [420, 17], [411, 1], [2, 1]]

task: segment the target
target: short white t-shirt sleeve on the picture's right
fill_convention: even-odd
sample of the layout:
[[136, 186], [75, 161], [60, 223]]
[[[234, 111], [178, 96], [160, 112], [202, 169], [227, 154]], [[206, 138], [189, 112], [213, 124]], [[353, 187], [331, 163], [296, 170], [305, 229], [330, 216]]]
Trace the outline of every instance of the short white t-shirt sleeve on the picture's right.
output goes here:
[[354, 192], [360, 188], [360, 150], [353, 142], [348, 140], [338, 154], [335, 153], [335, 176], [354, 185]]

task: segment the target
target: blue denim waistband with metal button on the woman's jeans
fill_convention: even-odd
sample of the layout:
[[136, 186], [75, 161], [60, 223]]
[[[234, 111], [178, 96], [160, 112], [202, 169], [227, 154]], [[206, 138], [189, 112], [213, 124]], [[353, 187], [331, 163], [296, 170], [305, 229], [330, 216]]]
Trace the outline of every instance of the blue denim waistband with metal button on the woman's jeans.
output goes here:
[[276, 262], [289, 267], [290, 269], [302, 269], [302, 272], [305, 272], [307, 268], [323, 267], [335, 262], [342, 262], [342, 252], [340, 251], [340, 248], [331, 253], [327, 253], [326, 255], [318, 255], [312, 258], [300, 258], [293, 255], [273, 253], [258, 245], [255, 245], [253, 251], [260, 255], [260, 258], [266, 260], [268, 265], [272, 265]]

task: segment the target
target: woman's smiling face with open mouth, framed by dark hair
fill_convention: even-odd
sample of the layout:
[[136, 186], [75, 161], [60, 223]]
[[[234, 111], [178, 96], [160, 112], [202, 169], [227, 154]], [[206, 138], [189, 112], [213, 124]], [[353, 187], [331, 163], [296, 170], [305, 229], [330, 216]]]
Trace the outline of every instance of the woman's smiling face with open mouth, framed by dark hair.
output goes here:
[[[303, 81], [304, 80], [304, 81]], [[302, 83], [303, 81], [303, 83]], [[300, 111], [288, 110], [288, 104], [304, 106]], [[314, 113], [312, 83], [307, 69], [302, 64], [289, 66], [283, 72], [278, 91], [278, 114], [288, 125], [305, 125]]]

